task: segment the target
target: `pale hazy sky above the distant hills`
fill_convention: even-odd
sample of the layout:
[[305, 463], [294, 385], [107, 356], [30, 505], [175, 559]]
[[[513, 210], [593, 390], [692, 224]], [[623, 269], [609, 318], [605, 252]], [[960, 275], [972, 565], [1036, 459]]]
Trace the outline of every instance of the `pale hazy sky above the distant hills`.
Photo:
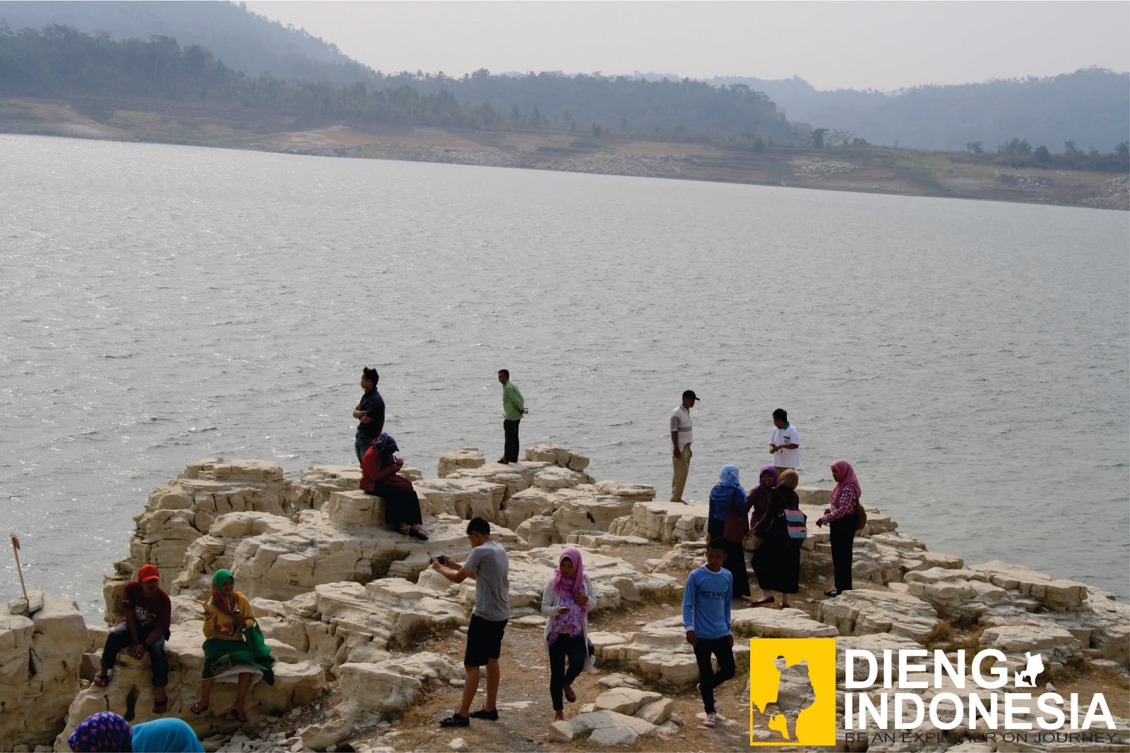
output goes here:
[[800, 76], [895, 89], [1130, 70], [1130, 2], [375, 2], [247, 8], [384, 72]]

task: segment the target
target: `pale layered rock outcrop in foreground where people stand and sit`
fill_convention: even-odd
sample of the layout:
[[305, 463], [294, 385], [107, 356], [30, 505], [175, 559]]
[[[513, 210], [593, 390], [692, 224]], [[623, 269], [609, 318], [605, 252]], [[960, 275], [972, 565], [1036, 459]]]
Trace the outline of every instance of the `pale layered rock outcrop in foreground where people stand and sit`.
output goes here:
[[[405, 475], [420, 494], [428, 542], [386, 529], [382, 501], [358, 491], [355, 466], [314, 466], [289, 481], [275, 463], [209, 458], [190, 464], [149, 496], [129, 557], [106, 578], [107, 625], [119, 619], [124, 583], [146, 562], [160, 567], [174, 602], [169, 715], [189, 721], [208, 750], [337, 750], [345, 744], [436, 750], [454, 743], [457, 734], [436, 733], [435, 719], [419, 709], [429, 708], [432, 699], [446, 701], [462, 683], [459, 655], [443, 649], [459, 640], [473, 586], [452, 586], [427, 563], [437, 553], [467, 554], [463, 527], [472, 516], [490, 520], [495, 540], [511, 552], [507, 647], [539, 640], [538, 602], [565, 543], [585, 551], [598, 614], [629, 608], [649, 619], [619, 620], [616, 630], [593, 633], [596, 682], [607, 692], [592, 709], [582, 708], [547, 732], [541, 725], [531, 728], [531, 719], [522, 724], [524, 707], [512, 707], [514, 721], [462, 735], [471, 750], [536, 750], [538, 736], [555, 750], [732, 750], [734, 741], [746, 738], [740, 707], [749, 699], [748, 647], [736, 646], [745, 656], [739, 665], [745, 662], [746, 684], [742, 691], [739, 675], [729, 689], [728, 726], [707, 730], [688, 710], [694, 703], [686, 703], [694, 698], [696, 668], [681, 619], [642, 608], [657, 599], [678, 604], [686, 572], [702, 561], [705, 505], [657, 502], [649, 485], [598, 482], [588, 457], [554, 446], [528, 448], [525, 459], [513, 465], [488, 464], [481, 453], [463, 449], [444, 455], [435, 478], [409, 469]], [[831, 555], [827, 532], [815, 520], [828, 492], [800, 491], [810, 522], [801, 579], [818, 583], [826, 579]], [[930, 552], [889, 516], [868, 507], [868, 526], [855, 541], [857, 590], [806, 608], [736, 605], [736, 631], [742, 637], [838, 637], [841, 690], [844, 648], [975, 645], [1002, 651], [1010, 673], [1026, 666], [1026, 653], [1038, 653], [1045, 667], [1040, 688], [1066, 688], [1080, 672], [1105, 678], [1118, 723], [1115, 741], [1104, 750], [1125, 748], [1130, 606], [1086, 584], [999, 561], [966, 567], [960, 558]], [[244, 730], [226, 716], [232, 690], [214, 693], [210, 712], [188, 712], [198, 698], [203, 660], [199, 601], [219, 568], [233, 569], [240, 589], [252, 597], [278, 658], [276, 684], [252, 690], [251, 726]], [[8, 611], [0, 618], [0, 748], [67, 750], [73, 725], [98, 710], [129, 712], [134, 724], [154, 718], [147, 658], [127, 659], [106, 689], [89, 684], [108, 627], [86, 625], [77, 606], [61, 598], [31, 605], [17, 599]], [[529, 630], [523, 633], [523, 628]], [[529, 675], [532, 686], [545, 685], [544, 672]], [[516, 688], [504, 683], [502, 700], [521, 703], [524, 693], [507, 698]], [[803, 683], [785, 683], [780, 703], [799, 709], [806, 692]], [[544, 706], [541, 698], [537, 702]], [[397, 720], [395, 729], [389, 720]], [[751, 732], [766, 742], [777, 734], [756, 718]], [[957, 747], [970, 732], [976, 728], [950, 730], [941, 736], [950, 742], [935, 750]], [[837, 748], [879, 750], [868, 748], [866, 741], [849, 742], [842, 725]]]

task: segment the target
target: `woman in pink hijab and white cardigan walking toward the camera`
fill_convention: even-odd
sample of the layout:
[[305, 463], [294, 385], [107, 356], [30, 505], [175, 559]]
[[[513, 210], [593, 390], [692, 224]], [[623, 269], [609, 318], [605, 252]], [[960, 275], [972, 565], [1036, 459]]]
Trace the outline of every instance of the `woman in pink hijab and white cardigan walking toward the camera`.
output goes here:
[[541, 594], [542, 613], [553, 615], [546, 620], [546, 651], [549, 653], [549, 699], [554, 704], [554, 721], [565, 719], [562, 697], [570, 703], [576, 700], [573, 681], [591, 662], [589, 608], [594, 603], [596, 595], [589, 576], [584, 575], [581, 550], [570, 546], [558, 558], [554, 577]]

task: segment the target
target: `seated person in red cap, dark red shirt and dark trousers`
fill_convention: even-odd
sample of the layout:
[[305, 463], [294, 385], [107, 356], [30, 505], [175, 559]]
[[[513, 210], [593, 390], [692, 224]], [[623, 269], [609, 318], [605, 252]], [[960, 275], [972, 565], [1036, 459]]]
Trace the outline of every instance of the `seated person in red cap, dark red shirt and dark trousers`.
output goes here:
[[168, 710], [168, 657], [165, 656], [165, 639], [172, 622], [173, 604], [168, 594], [160, 588], [160, 572], [156, 564], [142, 564], [138, 579], [125, 584], [122, 593], [122, 611], [125, 616], [106, 636], [102, 649], [102, 668], [94, 675], [94, 684], [105, 688], [110, 682], [110, 669], [118, 660], [118, 653], [129, 647], [130, 656], [140, 659], [149, 651], [153, 664], [154, 713]]

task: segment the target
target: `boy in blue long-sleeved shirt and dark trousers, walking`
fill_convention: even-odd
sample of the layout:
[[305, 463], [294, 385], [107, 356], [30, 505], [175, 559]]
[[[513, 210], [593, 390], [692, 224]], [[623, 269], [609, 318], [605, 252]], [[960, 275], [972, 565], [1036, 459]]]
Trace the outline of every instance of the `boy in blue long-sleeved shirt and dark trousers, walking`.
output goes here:
[[[706, 545], [706, 564], [690, 571], [683, 589], [683, 628], [687, 642], [695, 647], [698, 662], [698, 690], [703, 695], [707, 727], [718, 724], [714, 689], [734, 673], [733, 633], [730, 631], [730, 604], [733, 601], [733, 576], [722, 569], [725, 545], [712, 539]], [[718, 657], [714, 672], [711, 655]]]

